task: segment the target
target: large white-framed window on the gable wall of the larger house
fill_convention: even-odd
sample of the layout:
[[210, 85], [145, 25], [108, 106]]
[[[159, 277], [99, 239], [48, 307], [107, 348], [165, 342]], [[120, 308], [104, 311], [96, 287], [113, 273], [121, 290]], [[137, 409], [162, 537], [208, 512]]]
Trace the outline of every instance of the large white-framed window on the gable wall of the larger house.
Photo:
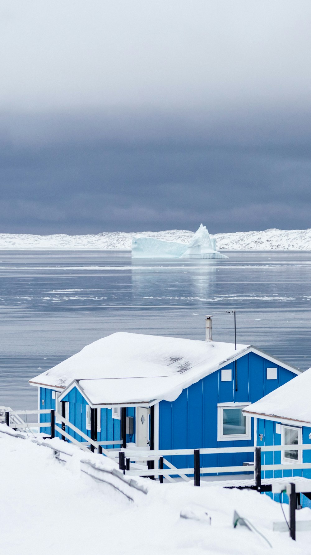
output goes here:
[[251, 417], [242, 413], [249, 403], [218, 406], [217, 441], [251, 440]]

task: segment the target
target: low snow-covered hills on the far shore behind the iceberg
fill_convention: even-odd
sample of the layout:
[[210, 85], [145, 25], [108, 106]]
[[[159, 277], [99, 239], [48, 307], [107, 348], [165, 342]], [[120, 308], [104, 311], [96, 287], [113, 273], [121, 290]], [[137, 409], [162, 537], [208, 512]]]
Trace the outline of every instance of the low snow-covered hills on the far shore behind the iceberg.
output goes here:
[[[0, 250], [131, 250], [133, 235], [144, 235], [163, 241], [190, 243], [193, 231], [144, 231], [123, 233], [106, 231], [97, 235], [27, 235], [0, 234]], [[311, 250], [311, 229], [239, 231], [210, 235], [217, 250]]]

